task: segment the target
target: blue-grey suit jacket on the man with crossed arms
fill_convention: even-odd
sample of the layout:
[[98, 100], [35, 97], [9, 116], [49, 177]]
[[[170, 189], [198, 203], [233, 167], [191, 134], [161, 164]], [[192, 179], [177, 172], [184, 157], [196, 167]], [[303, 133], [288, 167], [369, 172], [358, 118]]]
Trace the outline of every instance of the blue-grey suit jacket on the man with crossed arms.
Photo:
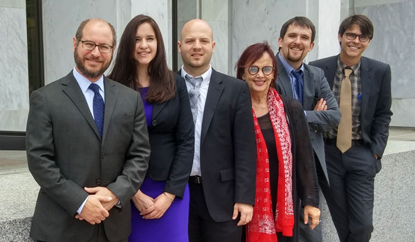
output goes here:
[[[275, 58], [277, 58], [278, 62], [278, 77], [275, 80], [275, 89], [282, 95], [293, 97], [290, 77], [288, 77], [286, 69], [279, 57], [275, 56]], [[324, 177], [327, 183], [329, 183], [322, 133], [338, 126], [341, 117], [338, 102], [335, 100], [335, 96], [327, 83], [326, 77], [324, 77], [322, 69], [304, 63], [303, 81], [303, 110], [306, 111], [306, 121], [310, 131], [311, 145], [313, 145], [315, 156], [320, 162]], [[313, 110], [320, 98], [326, 100], [326, 111]]]

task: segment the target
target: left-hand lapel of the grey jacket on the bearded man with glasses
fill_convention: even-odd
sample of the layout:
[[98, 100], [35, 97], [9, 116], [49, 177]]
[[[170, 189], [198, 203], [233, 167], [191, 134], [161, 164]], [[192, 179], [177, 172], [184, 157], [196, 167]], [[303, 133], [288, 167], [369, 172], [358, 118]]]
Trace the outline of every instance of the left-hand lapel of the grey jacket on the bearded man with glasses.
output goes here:
[[88, 104], [86, 103], [84, 94], [82, 93], [80, 86], [77, 84], [72, 71], [66, 75], [66, 78], [62, 81], [62, 91], [72, 100], [73, 104], [75, 104], [77, 109], [84, 116], [89, 126], [91, 126], [99, 138], [100, 133], [98, 133], [97, 126], [93, 120]]

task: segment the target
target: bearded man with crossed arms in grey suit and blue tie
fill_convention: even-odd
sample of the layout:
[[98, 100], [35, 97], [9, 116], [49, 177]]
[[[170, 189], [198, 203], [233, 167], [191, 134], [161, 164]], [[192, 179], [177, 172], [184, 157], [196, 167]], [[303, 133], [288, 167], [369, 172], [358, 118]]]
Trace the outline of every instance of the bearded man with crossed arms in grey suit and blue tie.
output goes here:
[[[279, 71], [275, 86], [282, 95], [302, 103], [314, 156], [319, 161], [315, 162], [319, 183], [329, 184], [322, 133], [336, 127], [341, 115], [322, 69], [303, 63], [308, 52], [313, 50], [314, 37], [315, 26], [306, 17], [294, 17], [282, 26], [276, 56]], [[300, 216], [300, 221], [304, 221], [304, 212], [300, 212]], [[311, 230], [300, 223], [299, 235], [300, 241], [322, 241], [321, 226]]]

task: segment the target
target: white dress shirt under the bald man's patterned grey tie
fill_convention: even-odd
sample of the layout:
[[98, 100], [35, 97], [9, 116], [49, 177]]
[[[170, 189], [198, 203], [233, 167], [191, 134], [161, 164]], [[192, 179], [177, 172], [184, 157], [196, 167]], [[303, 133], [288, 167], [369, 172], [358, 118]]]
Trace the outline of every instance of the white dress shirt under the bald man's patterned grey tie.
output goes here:
[[[190, 75], [185, 71], [185, 68], [181, 68], [181, 76], [183, 78], [186, 75]], [[192, 75], [190, 75], [192, 76]], [[199, 95], [199, 100], [197, 102], [197, 118], [196, 124], [194, 124], [194, 156], [193, 156], [193, 165], [192, 165], [192, 172], [190, 172], [190, 176], [201, 176], [201, 131], [202, 131], [202, 122], [203, 122], [203, 111], [205, 109], [206, 97], [208, 96], [208, 89], [210, 84], [210, 77], [212, 76], [212, 66], [209, 66], [208, 71], [203, 73], [201, 77], [203, 78], [201, 87], [199, 91], [201, 95]], [[193, 76], [192, 76], [193, 77]], [[187, 91], [192, 88], [192, 84], [187, 83], [186, 81]]]

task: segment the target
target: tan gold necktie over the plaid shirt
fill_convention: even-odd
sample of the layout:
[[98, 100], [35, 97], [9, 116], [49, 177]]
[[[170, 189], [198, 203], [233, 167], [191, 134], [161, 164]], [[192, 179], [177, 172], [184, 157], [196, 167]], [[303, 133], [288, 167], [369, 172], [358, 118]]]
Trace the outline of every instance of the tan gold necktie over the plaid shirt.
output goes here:
[[344, 69], [344, 78], [340, 89], [340, 113], [342, 118], [338, 127], [337, 147], [346, 152], [351, 147], [351, 83], [349, 75], [351, 69]]

